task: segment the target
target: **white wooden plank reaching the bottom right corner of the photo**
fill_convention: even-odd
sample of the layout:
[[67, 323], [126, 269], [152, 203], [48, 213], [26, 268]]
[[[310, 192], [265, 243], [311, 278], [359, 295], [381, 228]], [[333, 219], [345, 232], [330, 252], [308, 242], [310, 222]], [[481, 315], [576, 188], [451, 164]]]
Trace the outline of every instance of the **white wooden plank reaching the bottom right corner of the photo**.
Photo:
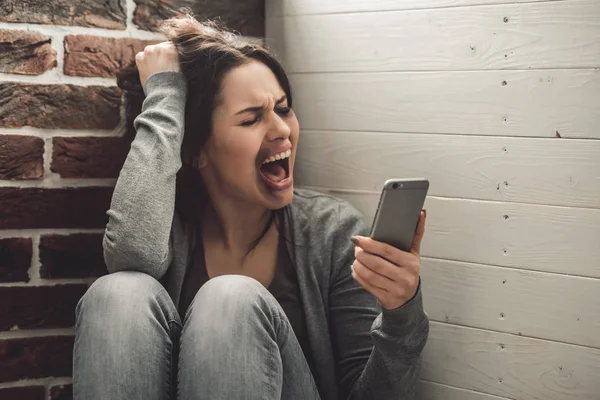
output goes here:
[[597, 400], [600, 350], [431, 323], [421, 377], [519, 400]]

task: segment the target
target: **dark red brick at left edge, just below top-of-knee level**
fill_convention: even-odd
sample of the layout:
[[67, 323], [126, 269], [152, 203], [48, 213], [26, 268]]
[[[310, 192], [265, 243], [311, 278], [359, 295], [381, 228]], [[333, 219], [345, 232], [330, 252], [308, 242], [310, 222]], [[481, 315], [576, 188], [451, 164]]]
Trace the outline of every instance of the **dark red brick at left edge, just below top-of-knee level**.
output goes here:
[[0, 331], [68, 328], [87, 285], [0, 287]]

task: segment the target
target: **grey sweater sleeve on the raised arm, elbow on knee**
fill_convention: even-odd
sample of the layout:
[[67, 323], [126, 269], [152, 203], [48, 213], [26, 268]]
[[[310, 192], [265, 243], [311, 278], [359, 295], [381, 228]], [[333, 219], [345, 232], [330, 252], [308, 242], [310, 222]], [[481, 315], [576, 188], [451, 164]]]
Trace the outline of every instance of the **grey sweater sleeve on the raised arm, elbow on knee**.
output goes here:
[[135, 270], [160, 279], [171, 263], [175, 178], [181, 168], [187, 83], [180, 72], [158, 72], [146, 98], [113, 193], [104, 232], [109, 272]]

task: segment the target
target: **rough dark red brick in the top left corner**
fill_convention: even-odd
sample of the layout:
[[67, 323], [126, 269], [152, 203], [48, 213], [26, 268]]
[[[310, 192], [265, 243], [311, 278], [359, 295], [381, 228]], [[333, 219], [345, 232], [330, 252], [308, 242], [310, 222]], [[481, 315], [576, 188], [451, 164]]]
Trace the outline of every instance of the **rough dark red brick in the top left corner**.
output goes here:
[[0, 21], [125, 29], [126, 0], [4, 0]]

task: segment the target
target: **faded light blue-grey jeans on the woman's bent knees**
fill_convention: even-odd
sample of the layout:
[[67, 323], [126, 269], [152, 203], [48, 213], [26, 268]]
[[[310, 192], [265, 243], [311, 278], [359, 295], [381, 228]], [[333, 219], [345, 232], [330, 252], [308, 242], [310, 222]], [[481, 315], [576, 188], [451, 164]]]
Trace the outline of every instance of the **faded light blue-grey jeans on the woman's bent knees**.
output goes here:
[[117, 272], [76, 315], [75, 399], [319, 399], [283, 309], [252, 278], [211, 279], [182, 323], [158, 281]]

